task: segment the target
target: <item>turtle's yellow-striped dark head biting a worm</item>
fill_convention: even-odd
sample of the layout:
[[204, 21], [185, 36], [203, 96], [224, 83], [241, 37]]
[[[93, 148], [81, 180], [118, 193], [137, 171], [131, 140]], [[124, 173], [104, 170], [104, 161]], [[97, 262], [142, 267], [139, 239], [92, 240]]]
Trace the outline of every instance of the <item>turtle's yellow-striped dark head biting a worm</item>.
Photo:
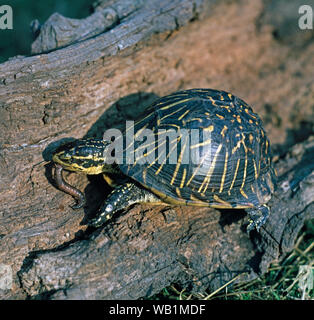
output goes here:
[[76, 140], [59, 147], [52, 161], [70, 171], [99, 174], [107, 171], [106, 154], [110, 142], [100, 139]]

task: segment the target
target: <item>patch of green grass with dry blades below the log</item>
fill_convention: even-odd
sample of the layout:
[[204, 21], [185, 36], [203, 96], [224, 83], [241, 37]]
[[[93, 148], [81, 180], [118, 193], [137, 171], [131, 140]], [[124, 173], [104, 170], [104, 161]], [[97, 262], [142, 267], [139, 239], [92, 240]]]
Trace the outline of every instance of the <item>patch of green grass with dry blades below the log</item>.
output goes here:
[[191, 293], [178, 285], [164, 288], [156, 300], [313, 300], [314, 221], [301, 230], [293, 250], [280, 263], [272, 264], [260, 278], [224, 285], [214, 292]]

